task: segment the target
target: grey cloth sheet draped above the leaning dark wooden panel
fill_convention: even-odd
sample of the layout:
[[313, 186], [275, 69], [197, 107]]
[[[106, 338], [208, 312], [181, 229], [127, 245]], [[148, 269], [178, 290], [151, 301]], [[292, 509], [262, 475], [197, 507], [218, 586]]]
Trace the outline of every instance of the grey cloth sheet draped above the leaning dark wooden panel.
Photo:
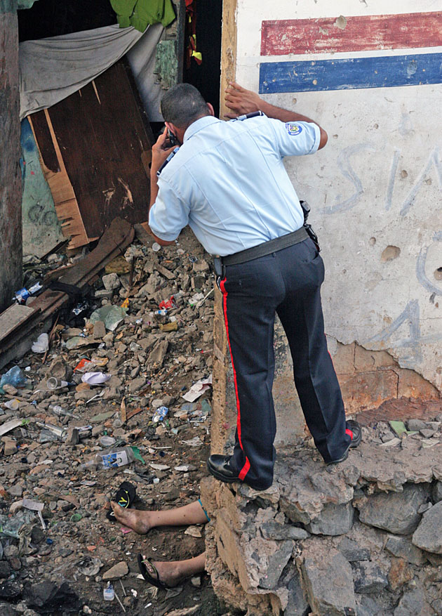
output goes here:
[[162, 33], [161, 24], [149, 26], [144, 33], [112, 25], [20, 43], [20, 119], [86, 86], [129, 52], [147, 116], [151, 122], [160, 122], [161, 87], [155, 83], [153, 69]]

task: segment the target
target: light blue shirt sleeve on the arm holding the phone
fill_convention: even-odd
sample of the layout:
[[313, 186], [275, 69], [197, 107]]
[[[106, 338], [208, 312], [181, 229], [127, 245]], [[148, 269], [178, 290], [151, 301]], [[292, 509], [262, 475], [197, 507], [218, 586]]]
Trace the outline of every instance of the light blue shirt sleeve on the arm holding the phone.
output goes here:
[[165, 242], [176, 240], [189, 223], [189, 211], [189, 204], [168, 183], [159, 180], [159, 192], [149, 211], [149, 227], [156, 237]]

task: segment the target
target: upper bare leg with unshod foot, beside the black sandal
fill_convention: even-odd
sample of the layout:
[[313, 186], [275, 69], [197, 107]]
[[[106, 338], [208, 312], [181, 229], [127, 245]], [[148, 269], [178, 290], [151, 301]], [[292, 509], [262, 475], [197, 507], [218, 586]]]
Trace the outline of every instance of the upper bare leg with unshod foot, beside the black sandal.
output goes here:
[[132, 528], [139, 535], [145, 535], [155, 526], [185, 526], [188, 524], [205, 524], [207, 522], [199, 501], [195, 501], [176, 509], [166, 511], [140, 511], [140, 509], [123, 509], [119, 504], [112, 502], [116, 519], [128, 528]]

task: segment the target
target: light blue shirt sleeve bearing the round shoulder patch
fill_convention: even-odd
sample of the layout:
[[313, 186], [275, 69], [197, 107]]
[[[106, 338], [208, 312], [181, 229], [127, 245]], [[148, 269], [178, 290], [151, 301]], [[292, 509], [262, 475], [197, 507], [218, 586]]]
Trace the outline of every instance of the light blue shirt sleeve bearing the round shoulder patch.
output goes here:
[[321, 130], [313, 122], [281, 122], [269, 119], [276, 135], [280, 155], [302, 156], [314, 154], [319, 148]]

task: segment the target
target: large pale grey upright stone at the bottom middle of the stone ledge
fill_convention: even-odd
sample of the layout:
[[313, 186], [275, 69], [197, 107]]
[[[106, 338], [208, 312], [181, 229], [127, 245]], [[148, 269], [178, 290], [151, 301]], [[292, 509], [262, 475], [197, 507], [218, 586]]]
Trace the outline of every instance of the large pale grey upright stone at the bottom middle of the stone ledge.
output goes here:
[[302, 552], [300, 565], [314, 614], [356, 614], [351, 566], [340, 552], [319, 544], [309, 545]]

